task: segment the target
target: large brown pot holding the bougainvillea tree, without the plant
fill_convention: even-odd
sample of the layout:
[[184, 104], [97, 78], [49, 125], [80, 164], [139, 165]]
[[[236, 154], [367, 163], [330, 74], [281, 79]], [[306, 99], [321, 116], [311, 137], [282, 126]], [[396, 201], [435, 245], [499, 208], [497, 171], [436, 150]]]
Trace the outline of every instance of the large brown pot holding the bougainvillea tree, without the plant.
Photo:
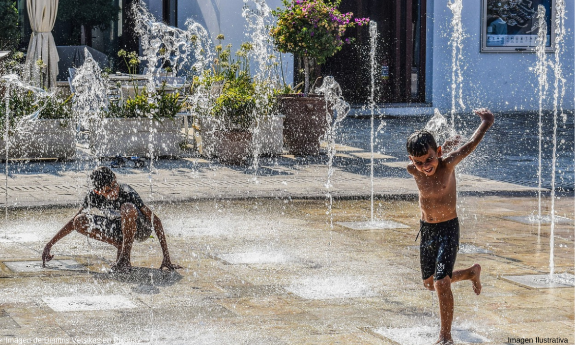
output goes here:
[[285, 115], [283, 141], [290, 154], [318, 155], [320, 139], [328, 128], [323, 95], [281, 95], [278, 106]]

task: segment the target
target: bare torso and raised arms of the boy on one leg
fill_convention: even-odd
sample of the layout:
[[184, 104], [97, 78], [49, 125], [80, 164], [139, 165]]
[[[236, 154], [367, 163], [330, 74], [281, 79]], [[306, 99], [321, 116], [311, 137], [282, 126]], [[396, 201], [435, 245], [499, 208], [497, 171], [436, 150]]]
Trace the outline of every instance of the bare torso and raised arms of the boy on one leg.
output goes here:
[[419, 206], [421, 220], [426, 223], [441, 223], [457, 217], [457, 183], [455, 166], [469, 155], [485, 132], [493, 124], [493, 114], [486, 109], [477, 110], [481, 125], [467, 143], [457, 150], [442, 157], [442, 149], [428, 149], [427, 154], [419, 157], [409, 156], [411, 163], [407, 166], [419, 189]]

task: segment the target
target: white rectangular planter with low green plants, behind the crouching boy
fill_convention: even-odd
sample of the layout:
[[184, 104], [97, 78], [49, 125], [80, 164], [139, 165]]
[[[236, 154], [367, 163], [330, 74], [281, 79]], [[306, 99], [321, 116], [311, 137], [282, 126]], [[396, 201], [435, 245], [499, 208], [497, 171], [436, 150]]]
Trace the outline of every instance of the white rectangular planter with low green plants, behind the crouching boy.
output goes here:
[[164, 87], [156, 93], [111, 101], [103, 117], [90, 123], [90, 148], [98, 157], [178, 156], [183, 105], [179, 92]]

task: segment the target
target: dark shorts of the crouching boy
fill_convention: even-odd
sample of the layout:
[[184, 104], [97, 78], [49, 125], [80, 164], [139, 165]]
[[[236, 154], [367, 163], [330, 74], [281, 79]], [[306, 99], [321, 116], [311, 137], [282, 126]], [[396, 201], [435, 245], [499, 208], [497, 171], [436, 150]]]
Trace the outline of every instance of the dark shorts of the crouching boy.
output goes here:
[[[135, 241], [143, 242], [150, 238], [152, 234], [152, 224], [148, 217], [137, 210], [138, 217], [136, 219], [136, 236]], [[99, 216], [97, 214], [88, 214], [88, 219], [90, 220], [90, 232], [103, 232], [111, 237], [114, 237], [118, 241], [122, 242], [124, 240], [124, 234], [122, 233], [122, 220], [121, 218], [109, 219], [104, 216]]]

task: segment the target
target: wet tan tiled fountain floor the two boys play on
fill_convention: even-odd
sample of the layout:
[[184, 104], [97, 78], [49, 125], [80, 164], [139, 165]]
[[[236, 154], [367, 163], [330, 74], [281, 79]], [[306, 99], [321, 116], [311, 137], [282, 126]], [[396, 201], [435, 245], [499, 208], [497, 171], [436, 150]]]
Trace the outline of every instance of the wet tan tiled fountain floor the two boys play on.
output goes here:
[[[573, 220], [571, 198], [561, 198], [556, 207], [558, 215]], [[476, 296], [470, 282], [453, 287], [458, 343], [535, 337], [574, 343], [573, 287], [530, 289], [503, 278], [549, 272], [549, 225], [502, 218], [536, 208], [534, 198], [459, 198], [462, 248], [456, 269], [481, 264], [483, 290]], [[543, 209], [549, 209], [548, 200]], [[53, 247], [52, 269], [42, 269], [45, 242], [75, 209], [11, 210], [9, 238], [0, 240], [0, 343], [434, 341], [438, 302], [421, 285], [416, 201], [375, 202], [376, 218], [408, 225], [393, 230], [337, 224], [367, 220], [366, 200], [336, 200], [333, 228], [321, 200], [200, 200], [158, 204], [155, 211], [182, 270], [157, 269], [162, 256], [152, 238], [135, 244], [131, 273], [110, 274], [114, 248], [76, 233]], [[573, 274], [573, 244], [573, 224], [558, 224], [557, 273]]]

